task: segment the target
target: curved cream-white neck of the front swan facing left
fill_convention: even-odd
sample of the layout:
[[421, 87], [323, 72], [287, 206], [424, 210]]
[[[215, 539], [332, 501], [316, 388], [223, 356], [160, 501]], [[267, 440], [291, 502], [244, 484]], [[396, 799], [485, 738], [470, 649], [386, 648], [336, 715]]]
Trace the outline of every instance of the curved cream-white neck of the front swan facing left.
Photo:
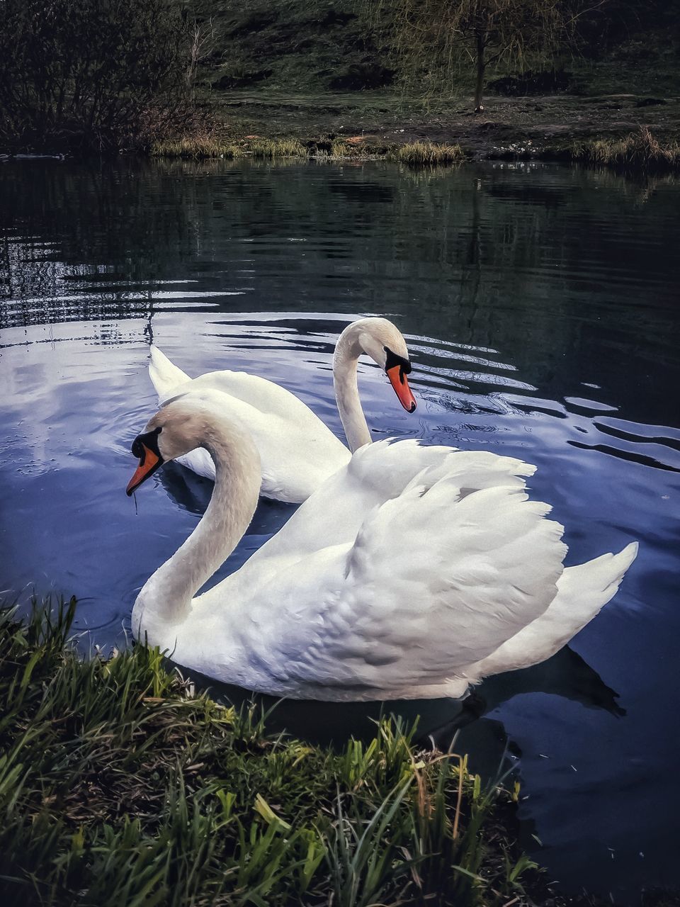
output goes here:
[[[132, 629], [151, 634], [158, 624], [186, 619], [192, 597], [234, 551], [257, 507], [260, 460], [255, 444], [233, 424], [215, 424], [201, 446], [215, 461], [208, 510], [187, 541], [144, 584], [132, 610]], [[143, 636], [142, 636], [143, 638]], [[149, 636], [149, 643], [155, 645]]]

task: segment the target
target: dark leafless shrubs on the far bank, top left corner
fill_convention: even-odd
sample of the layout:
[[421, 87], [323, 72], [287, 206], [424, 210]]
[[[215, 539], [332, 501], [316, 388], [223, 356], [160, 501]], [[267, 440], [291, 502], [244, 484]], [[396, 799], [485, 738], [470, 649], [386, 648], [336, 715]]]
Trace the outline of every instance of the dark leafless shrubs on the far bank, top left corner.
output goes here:
[[169, 132], [191, 115], [189, 31], [165, 0], [5, 0], [0, 138], [112, 150]]

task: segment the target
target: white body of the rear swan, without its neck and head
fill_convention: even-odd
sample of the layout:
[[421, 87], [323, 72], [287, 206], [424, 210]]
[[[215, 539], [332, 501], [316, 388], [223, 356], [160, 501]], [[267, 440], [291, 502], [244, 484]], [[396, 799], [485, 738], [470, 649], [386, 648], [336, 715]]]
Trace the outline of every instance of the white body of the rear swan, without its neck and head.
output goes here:
[[[267, 378], [246, 372], [208, 372], [189, 378], [151, 347], [151, 380], [159, 391], [160, 403], [170, 396], [199, 391], [220, 394], [230, 418], [247, 428], [262, 462], [262, 488], [267, 497], [299, 503], [338, 469], [349, 462], [351, 453], [311, 409]], [[172, 384], [172, 378], [184, 380]], [[199, 475], [215, 478], [215, 467], [205, 451], [191, 451], [179, 462]]]

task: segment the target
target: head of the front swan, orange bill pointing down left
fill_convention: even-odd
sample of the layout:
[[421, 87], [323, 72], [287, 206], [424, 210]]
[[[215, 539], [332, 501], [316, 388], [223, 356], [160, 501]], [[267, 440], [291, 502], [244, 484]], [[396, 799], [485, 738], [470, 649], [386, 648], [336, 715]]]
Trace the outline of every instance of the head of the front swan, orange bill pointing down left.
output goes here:
[[163, 463], [176, 460], [197, 447], [209, 446], [220, 428], [226, 428], [231, 436], [241, 436], [242, 433], [236, 426], [225, 423], [223, 400], [219, 398], [219, 393], [217, 399], [212, 398], [216, 393], [218, 392], [201, 391], [180, 394], [160, 406], [144, 431], [132, 442], [131, 451], [139, 457], [140, 463], [128, 483], [126, 491], [129, 495], [159, 470]]

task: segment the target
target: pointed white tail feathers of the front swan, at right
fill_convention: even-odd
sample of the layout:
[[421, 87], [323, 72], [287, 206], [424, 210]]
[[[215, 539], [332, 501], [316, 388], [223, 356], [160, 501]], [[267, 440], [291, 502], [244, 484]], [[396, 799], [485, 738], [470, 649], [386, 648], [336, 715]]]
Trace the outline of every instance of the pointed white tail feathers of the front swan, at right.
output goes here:
[[632, 541], [618, 554], [602, 554], [594, 561], [566, 567], [548, 609], [488, 658], [466, 668], [465, 675], [475, 681], [550, 658], [614, 598], [636, 555], [637, 542]]

